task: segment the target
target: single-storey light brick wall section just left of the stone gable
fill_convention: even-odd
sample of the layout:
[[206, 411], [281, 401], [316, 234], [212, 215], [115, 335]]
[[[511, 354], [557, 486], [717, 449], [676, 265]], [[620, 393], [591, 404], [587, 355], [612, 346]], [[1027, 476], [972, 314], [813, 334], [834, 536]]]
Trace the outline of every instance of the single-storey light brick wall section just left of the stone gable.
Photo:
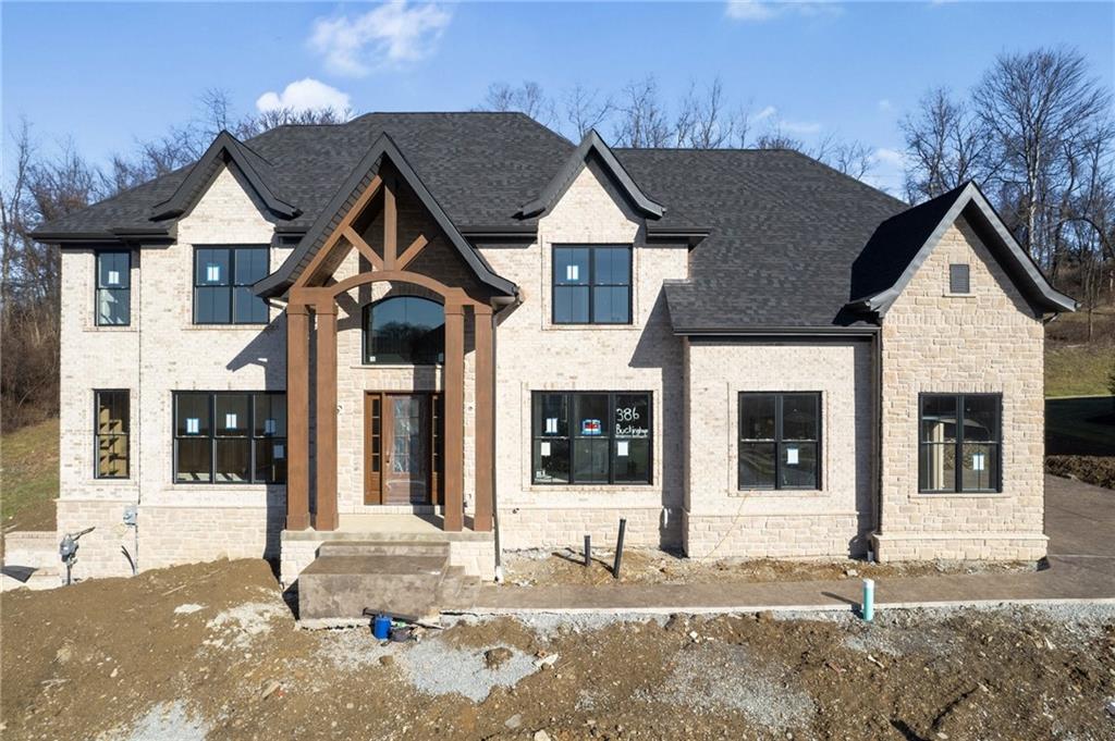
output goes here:
[[[692, 558], [862, 554], [871, 529], [871, 340], [692, 340], [685, 548]], [[821, 488], [741, 490], [739, 393], [821, 393]]]

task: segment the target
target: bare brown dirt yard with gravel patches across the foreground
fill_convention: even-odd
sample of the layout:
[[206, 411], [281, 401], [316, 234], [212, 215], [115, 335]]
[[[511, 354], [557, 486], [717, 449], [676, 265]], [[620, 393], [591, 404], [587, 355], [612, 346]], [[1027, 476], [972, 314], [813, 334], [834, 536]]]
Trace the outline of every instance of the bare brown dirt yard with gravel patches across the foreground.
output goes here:
[[9, 739], [1112, 739], [1115, 606], [295, 627], [269, 566], [2, 595]]

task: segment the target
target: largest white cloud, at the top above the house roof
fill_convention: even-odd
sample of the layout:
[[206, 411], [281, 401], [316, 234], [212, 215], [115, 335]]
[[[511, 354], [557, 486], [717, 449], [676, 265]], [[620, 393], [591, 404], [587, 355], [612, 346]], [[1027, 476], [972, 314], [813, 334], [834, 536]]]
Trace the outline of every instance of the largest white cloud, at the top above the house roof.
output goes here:
[[436, 4], [392, 0], [352, 18], [318, 18], [309, 45], [330, 71], [362, 77], [377, 67], [429, 56], [450, 18]]

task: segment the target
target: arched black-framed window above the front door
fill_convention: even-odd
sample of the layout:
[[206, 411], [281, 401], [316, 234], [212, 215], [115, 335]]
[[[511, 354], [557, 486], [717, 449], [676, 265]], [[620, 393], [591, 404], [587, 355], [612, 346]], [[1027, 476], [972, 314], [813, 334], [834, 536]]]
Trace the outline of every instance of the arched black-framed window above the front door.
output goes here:
[[363, 362], [445, 362], [445, 306], [419, 296], [388, 296], [365, 306]]

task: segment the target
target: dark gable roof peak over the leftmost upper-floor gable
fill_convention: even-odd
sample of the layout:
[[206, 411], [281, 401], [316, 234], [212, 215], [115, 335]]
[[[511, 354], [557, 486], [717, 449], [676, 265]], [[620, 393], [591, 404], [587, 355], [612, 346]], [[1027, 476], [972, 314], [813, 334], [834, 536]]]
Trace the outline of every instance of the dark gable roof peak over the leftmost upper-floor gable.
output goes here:
[[256, 154], [226, 130], [216, 135], [205, 154], [190, 168], [190, 174], [174, 194], [151, 208], [151, 221], [176, 218], [188, 211], [201, 197], [205, 186], [221, 165], [235, 165], [263, 201], [268, 211], [280, 218], [294, 218], [302, 213], [297, 206], [279, 197], [272, 186], [271, 163]]

